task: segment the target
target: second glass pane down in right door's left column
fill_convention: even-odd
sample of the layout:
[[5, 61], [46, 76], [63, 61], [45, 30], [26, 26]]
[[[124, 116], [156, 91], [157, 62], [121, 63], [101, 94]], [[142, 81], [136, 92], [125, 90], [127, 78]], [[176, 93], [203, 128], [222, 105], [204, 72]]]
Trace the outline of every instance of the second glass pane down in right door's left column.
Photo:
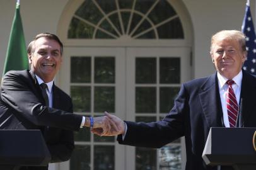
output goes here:
[[136, 113], [156, 113], [156, 88], [136, 88]]

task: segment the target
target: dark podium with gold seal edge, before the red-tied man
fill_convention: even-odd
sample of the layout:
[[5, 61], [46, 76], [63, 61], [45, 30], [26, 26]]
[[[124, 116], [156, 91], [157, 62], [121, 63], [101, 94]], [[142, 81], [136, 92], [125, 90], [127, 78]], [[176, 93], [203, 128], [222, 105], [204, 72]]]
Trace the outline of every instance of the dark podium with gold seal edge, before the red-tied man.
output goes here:
[[256, 128], [212, 127], [202, 159], [207, 165], [233, 166], [235, 170], [255, 170]]

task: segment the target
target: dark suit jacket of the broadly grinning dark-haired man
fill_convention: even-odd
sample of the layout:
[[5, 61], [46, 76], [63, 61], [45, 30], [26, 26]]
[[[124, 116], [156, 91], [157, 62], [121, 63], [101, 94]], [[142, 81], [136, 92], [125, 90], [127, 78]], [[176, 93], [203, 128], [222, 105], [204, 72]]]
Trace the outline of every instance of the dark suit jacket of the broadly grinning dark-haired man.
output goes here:
[[79, 130], [82, 116], [73, 114], [71, 98], [64, 91], [55, 85], [52, 90], [53, 108], [49, 108], [32, 71], [6, 73], [1, 85], [0, 129], [40, 129], [51, 162], [67, 161], [74, 149], [73, 130]]

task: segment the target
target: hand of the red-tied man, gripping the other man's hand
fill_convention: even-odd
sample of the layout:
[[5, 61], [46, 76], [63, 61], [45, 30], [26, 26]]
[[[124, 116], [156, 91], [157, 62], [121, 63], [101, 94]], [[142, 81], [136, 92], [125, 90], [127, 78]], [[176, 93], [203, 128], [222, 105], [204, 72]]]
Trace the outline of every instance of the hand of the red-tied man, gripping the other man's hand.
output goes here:
[[104, 129], [103, 127], [95, 127], [91, 128], [91, 132], [95, 133], [96, 135], [100, 136], [115, 136], [119, 134], [125, 133], [125, 123], [120, 118], [114, 115], [110, 115], [109, 113], [105, 112], [106, 119], [108, 120], [107, 127]]

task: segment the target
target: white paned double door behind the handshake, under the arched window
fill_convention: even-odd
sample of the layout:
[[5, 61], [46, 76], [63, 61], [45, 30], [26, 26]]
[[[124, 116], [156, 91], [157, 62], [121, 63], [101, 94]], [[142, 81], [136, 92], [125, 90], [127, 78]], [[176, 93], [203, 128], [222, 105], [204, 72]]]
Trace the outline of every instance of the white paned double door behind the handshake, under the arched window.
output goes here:
[[[190, 79], [190, 48], [65, 47], [59, 86], [73, 98], [74, 113], [152, 122], [170, 111], [180, 84]], [[178, 139], [161, 149], [119, 145], [115, 137], [75, 132], [71, 161], [59, 169], [185, 169], [185, 145]]]

